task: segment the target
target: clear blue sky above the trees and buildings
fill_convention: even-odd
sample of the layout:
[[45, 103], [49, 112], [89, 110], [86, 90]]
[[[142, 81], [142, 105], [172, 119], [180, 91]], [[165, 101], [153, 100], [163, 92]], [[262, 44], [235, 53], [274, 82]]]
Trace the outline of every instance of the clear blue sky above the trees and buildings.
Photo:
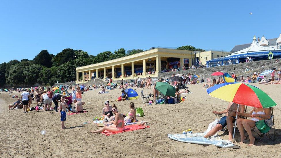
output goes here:
[[73, 48], [92, 55], [182, 45], [231, 50], [251, 43], [253, 35], [280, 35], [275, 2], [1, 1], [0, 63], [33, 59], [44, 49], [57, 54]]

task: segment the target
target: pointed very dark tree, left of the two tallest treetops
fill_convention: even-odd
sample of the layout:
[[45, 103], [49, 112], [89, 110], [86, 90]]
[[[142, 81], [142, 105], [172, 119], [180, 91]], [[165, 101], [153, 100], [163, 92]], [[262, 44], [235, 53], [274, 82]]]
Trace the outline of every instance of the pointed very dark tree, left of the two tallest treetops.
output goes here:
[[49, 54], [48, 50], [41, 50], [39, 54], [33, 59], [34, 64], [39, 64], [50, 68], [52, 66], [52, 56]]

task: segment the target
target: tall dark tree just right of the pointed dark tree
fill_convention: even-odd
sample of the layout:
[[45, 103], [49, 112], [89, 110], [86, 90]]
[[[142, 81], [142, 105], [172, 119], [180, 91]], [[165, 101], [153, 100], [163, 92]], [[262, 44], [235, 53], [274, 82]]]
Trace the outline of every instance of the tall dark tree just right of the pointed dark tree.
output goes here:
[[63, 63], [66, 63], [73, 59], [75, 59], [75, 51], [73, 49], [67, 48], [67, 49], [62, 50], [62, 52], [58, 53], [53, 58], [53, 65], [60, 66]]

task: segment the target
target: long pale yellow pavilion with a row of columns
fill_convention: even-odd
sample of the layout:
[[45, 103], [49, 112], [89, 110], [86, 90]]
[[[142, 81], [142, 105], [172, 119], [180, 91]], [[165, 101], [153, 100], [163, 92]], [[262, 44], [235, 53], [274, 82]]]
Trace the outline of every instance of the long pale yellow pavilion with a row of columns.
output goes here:
[[[194, 51], [189, 50], [154, 48], [122, 58], [81, 66], [76, 68], [76, 82], [86, 83], [88, 80], [97, 77], [100, 79], [109, 77], [113, 81], [148, 76], [157, 77], [161, 71], [178, 68], [179, 66], [188, 68], [191, 66], [193, 53]], [[81, 77], [82, 79], [80, 79]]]

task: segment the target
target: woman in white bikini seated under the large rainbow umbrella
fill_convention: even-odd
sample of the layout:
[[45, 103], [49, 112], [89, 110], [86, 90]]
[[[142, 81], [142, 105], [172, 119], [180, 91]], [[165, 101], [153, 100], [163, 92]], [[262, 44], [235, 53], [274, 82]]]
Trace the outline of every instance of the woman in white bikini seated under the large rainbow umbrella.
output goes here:
[[237, 127], [241, 136], [241, 142], [242, 144], [244, 140], [246, 139], [246, 136], [244, 134], [244, 128], [247, 131], [250, 139], [250, 144], [254, 145], [255, 143], [255, 137], [252, 134], [251, 128], [255, 127], [255, 123], [259, 120], [264, 119], [270, 119], [270, 108], [253, 108], [253, 110], [250, 113], [240, 113], [236, 111], [236, 114], [244, 117], [251, 117], [251, 119], [237, 119]]

